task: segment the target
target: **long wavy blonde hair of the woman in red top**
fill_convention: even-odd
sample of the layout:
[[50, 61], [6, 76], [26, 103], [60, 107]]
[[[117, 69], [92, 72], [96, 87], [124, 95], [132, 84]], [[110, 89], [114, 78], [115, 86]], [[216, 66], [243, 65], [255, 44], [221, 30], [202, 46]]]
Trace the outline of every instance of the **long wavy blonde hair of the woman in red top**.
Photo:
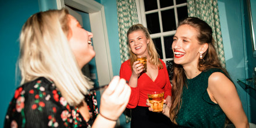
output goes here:
[[[148, 55], [150, 55], [150, 59], [148, 59], [148, 60], [151, 64], [157, 65], [159, 69], [162, 69], [163, 65], [159, 60], [159, 55], [157, 53], [157, 49], [155, 49], [154, 42], [152, 41], [152, 38], [150, 37], [150, 33], [148, 32], [148, 29], [145, 28], [142, 24], [134, 24], [127, 31], [127, 38], [129, 36], [129, 34], [133, 33], [134, 31], [143, 31], [143, 33], [145, 34], [145, 37], [148, 40], [150, 40], [150, 42], [148, 43]], [[136, 54], [134, 54], [133, 51], [131, 51], [130, 43], [128, 40], [127, 40], [127, 43], [129, 44], [130, 66], [131, 66], [131, 70], [132, 70], [133, 63], [136, 61]]]

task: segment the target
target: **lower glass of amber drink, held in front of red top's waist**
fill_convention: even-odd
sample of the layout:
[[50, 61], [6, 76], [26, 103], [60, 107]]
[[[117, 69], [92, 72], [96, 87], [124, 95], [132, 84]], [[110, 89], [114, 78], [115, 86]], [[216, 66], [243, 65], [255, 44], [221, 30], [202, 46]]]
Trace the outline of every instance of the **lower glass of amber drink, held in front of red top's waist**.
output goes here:
[[163, 111], [163, 91], [153, 91], [148, 93], [148, 99], [150, 100], [151, 108], [153, 112], [162, 112]]

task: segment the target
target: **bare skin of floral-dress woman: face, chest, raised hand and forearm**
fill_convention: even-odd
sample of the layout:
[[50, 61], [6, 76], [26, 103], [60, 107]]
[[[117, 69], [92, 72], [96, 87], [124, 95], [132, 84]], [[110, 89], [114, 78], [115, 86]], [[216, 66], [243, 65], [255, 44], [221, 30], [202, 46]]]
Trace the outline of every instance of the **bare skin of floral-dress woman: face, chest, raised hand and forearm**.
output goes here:
[[[70, 31], [67, 35], [70, 48], [76, 58], [80, 69], [94, 58], [95, 52], [91, 44], [93, 33], [84, 30], [80, 23], [71, 15], [69, 27]], [[108, 88], [105, 89], [101, 97], [100, 114], [95, 119], [92, 127], [115, 127], [119, 116], [125, 111], [126, 105], [130, 98], [131, 89], [126, 84], [125, 79], [119, 76], [113, 77]], [[88, 122], [90, 113], [85, 101], [78, 106], [83, 118]], [[106, 119], [104, 118], [104, 115]]]

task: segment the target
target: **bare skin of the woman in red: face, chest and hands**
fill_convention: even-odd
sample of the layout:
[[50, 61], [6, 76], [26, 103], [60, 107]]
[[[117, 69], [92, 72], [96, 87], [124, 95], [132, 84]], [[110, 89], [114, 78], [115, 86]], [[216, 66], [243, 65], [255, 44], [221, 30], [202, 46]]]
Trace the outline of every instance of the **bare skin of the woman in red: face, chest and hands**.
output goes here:
[[[133, 31], [128, 35], [128, 41], [131, 48], [131, 51], [137, 56], [147, 56], [150, 58], [148, 54], [148, 43], [150, 40], [145, 37], [145, 34], [142, 30]], [[138, 77], [143, 72], [143, 65], [140, 61], [136, 61], [133, 63], [133, 72], [131, 73], [129, 86], [137, 87]], [[146, 74], [151, 78], [152, 81], [155, 81], [158, 76], [158, 67], [156, 65], [152, 65], [147, 59], [147, 72]], [[166, 104], [168, 106], [171, 105], [171, 97], [168, 95], [166, 97]]]

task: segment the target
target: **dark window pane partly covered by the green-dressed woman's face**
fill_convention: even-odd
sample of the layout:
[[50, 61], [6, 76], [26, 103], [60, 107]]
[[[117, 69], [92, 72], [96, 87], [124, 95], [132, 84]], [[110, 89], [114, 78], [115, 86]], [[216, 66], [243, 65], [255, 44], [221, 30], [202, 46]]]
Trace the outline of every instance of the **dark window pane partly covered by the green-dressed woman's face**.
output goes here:
[[165, 42], [166, 58], [173, 58], [173, 52], [172, 52], [173, 35], [163, 37], [163, 41]]

